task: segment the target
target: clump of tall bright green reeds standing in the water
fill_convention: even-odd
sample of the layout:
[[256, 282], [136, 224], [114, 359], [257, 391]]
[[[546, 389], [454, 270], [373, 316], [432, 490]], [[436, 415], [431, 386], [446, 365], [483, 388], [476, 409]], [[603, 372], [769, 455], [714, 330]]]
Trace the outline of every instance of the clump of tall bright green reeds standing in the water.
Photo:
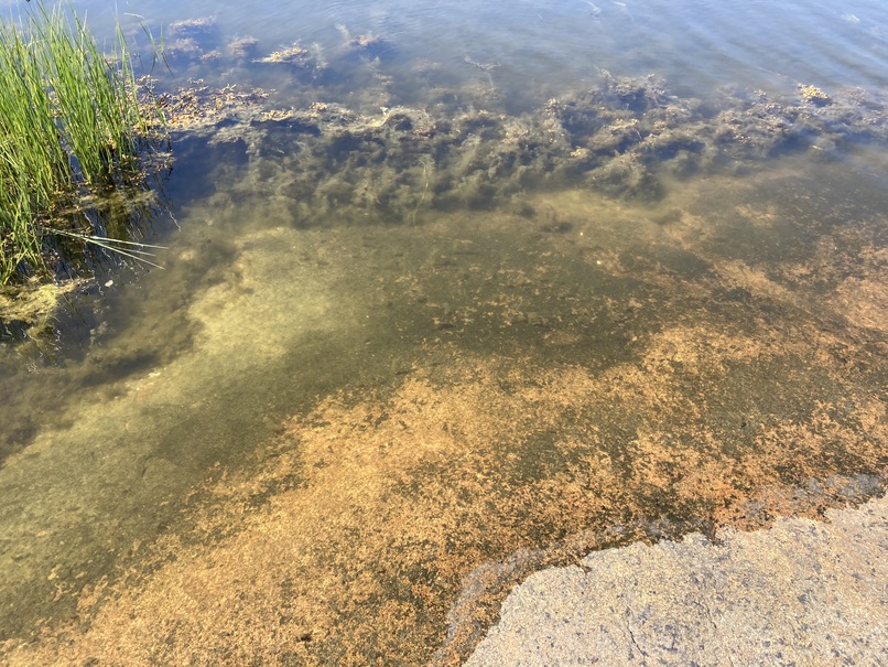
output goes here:
[[48, 273], [58, 238], [101, 237], [83, 197], [143, 179], [163, 137], [119, 24], [113, 42], [106, 54], [72, 8], [0, 22], [0, 284]]

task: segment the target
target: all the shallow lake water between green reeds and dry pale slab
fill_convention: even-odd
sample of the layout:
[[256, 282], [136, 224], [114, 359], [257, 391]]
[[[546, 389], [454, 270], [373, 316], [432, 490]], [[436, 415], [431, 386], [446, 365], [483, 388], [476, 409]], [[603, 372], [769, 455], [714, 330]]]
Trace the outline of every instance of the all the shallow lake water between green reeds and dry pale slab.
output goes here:
[[121, 7], [163, 268], [4, 327], [4, 659], [459, 664], [534, 569], [881, 493], [880, 9]]

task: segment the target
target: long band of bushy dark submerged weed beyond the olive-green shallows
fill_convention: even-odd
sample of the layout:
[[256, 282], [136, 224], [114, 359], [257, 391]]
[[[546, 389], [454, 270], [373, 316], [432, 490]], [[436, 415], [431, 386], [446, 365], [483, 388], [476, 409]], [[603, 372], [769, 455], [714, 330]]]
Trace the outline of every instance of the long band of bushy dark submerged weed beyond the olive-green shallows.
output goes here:
[[225, 171], [207, 177], [232, 162], [261, 162], [246, 168], [251, 176], [241, 187], [291, 200], [303, 224], [333, 214], [413, 224], [435, 211], [521, 211], [526, 193], [553, 187], [657, 201], [663, 179], [741, 174], [803, 152], [841, 160], [888, 138], [886, 100], [876, 92], [836, 92], [825, 106], [802, 90], [771, 99], [724, 89], [703, 101], [652, 76], [606, 72], [595, 88], [517, 116], [492, 95], [477, 107], [442, 101], [380, 112], [315, 101], [281, 109], [262, 90], [206, 85], [162, 104], [174, 127], [226, 157]]

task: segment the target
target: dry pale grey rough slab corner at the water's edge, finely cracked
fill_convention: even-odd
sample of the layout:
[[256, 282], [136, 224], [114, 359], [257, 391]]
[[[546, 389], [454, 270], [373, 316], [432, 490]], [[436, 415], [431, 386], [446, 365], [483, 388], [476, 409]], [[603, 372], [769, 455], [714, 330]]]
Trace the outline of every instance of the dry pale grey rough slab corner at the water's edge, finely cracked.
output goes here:
[[466, 667], [888, 665], [888, 499], [531, 575]]

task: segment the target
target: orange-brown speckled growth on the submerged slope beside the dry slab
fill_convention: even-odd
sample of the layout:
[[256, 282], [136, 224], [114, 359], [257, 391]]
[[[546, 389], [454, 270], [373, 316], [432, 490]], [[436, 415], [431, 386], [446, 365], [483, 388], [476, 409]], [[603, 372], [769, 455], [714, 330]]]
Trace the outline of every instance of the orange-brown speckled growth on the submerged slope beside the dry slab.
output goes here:
[[[738, 365], [808, 355], [842, 374], [822, 343], [760, 334], [676, 326], [602, 373], [430, 349], [391, 395], [335, 396], [294, 418], [258, 472], [213, 485], [187, 540], [169, 538], [155, 568], [84, 595], [88, 625], [8, 645], [11, 664], [422, 664], [468, 572], [561, 544], [491, 578], [440, 656], [455, 664], [461, 633], [495, 617], [503, 583], [608, 544], [615, 525], [610, 544], [650, 535], [667, 507], [743, 527], [816, 515], [852, 469], [879, 466], [885, 407], [849, 394], [729, 442], [712, 401]], [[795, 493], [829, 477], [816, 496]]]

